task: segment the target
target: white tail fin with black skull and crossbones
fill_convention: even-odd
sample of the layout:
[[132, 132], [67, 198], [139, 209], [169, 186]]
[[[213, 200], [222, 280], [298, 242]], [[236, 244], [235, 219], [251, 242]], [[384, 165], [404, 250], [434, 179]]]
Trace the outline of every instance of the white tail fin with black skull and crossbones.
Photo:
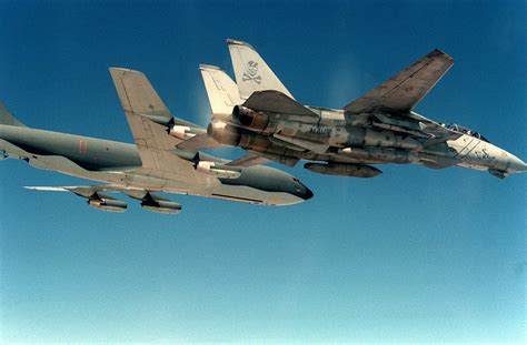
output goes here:
[[279, 91], [295, 99], [252, 45], [231, 39], [227, 40], [227, 44], [242, 99], [264, 90]]

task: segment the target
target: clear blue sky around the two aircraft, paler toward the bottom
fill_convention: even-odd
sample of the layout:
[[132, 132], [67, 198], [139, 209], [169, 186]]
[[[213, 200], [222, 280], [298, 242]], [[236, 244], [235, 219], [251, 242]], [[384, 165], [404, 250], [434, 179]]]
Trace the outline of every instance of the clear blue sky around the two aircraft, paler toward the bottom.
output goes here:
[[[198, 64], [231, 72], [227, 38], [330, 108], [439, 48], [456, 64], [417, 111], [526, 160], [526, 16], [524, 1], [1, 1], [0, 98], [28, 125], [132, 142], [108, 67], [146, 72], [205, 125]], [[316, 196], [172, 195], [183, 212], [163, 216], [28, 191], [86, 182], [0, 162], [0, 341], [526, 342], [526, 175], [282, 169]]]

